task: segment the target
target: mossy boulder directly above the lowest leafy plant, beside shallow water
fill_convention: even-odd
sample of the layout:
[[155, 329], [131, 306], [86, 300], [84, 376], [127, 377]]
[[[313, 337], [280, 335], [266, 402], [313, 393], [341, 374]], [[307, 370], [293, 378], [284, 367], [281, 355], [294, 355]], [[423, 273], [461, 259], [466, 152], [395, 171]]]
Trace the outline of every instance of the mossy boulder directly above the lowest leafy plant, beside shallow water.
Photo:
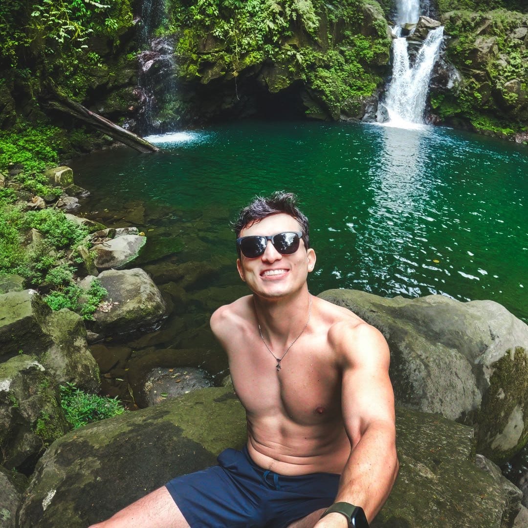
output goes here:
[[86, 342], [86, 327], [80, 315], [63, 308], [52, 312], [43, 328], [53, 343], [40, 357], [46, 370], [56, 381], [74, 383], [89, 391], [99, 390], [99, 367]]

